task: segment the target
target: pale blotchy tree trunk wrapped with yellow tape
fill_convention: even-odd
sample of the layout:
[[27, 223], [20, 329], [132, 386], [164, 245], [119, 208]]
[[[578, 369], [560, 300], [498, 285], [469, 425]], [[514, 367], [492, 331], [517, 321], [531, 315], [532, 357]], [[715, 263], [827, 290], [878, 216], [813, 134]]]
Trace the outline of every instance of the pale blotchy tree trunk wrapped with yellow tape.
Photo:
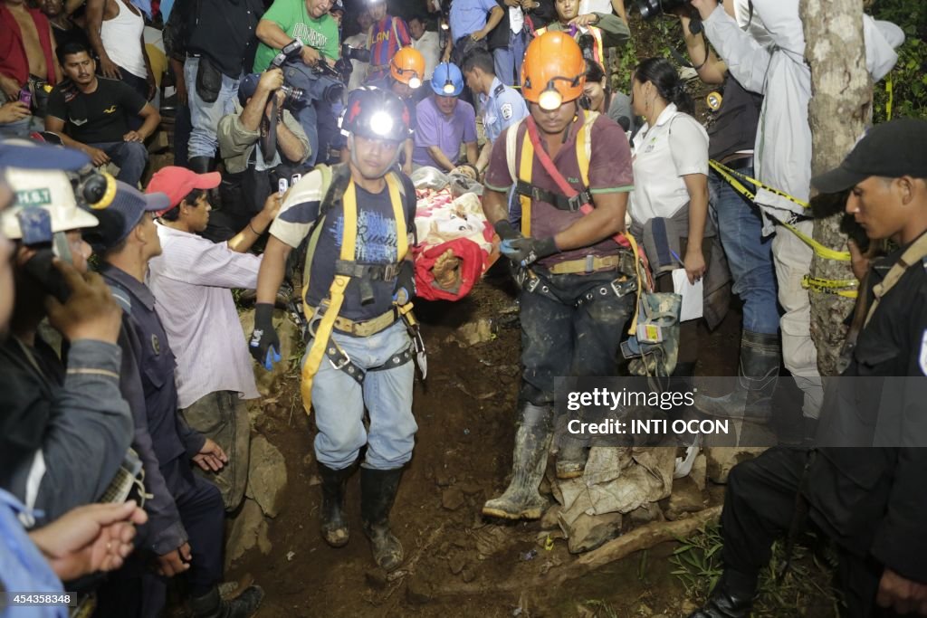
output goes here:
[[[811, 68], [811, 171], [817, 175], [840, 165], [871, 118], [872, 84], [866, 69], [862, 4], [859, 0], [802, 0], [805, 57]], [[843, 206], [843, 205], [841, 205]], [[815, 220], [814, 238], [821, 245], [846, 250], [840, 213]], [[826, 280], [854, 279], [848, 261], [811, 262], [811, 276]], [[811, 336], [818, 347], [821, 375], [837, 374], [837, 359], [846, 336], [844, 319], [853, 301], [844, 296], [809, 291]]]

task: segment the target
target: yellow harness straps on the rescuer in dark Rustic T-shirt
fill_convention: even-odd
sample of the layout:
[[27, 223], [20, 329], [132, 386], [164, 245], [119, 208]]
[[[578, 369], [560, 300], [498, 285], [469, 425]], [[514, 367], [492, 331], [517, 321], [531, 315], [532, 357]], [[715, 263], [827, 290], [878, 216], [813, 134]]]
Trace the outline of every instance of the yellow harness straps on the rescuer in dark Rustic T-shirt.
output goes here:
[[[330, 177], [330, 174], [330, 171], [326, 172], [324, 170], [323, 179], [325, 179], [326, 175]], [[393, 173], [387, 174], [385, 179], [389, 191], [389, 201], [393, 208], [393, 217], [396, 221], [397, 262], [401, 262], [403, 259], [405, 259], [406, 254], [409, 251], [409, 240], [406, 229], [405, 212], [402, 208], [400, 181]], [[345, 190], [343, 205], [344, 235], [341, 241], [339, 258], [343, 261], [353, 262], [355, 261], [354, 253], [357, 246], [358, 222], [357, 191], [353, 180], [349, 182], [348, 188]], [[318, 244], [318, 239], [322, 233], [323, 227], [324, 221], [322, 221], [322, 218], [320, 218], [320, 221], [316, 222], [315, 229], [312, 231], [312, 236], [310, 238], [308, 254], [306, 257], [306, 271], [303, 274], [304, 283], [302, 288], [302, 298], [304, 312], [306, 312], [309, 308], [307, 295], [309, 294], [312, 254], [315, 252], [315, 247]], [[328, 296], [323, 299], [323, 301], [319, 304], [319, 307], [315, 309], [315, 312], [312, 316], [306, 316], [310, 321], [311, 329], [313, 322], [317, 322], [317, 325], [314, 327], [314, 333], [312, 333], [313, 339], [309, 349], [309, 354], [306, 357], [305, 364], [302, 366], [302, 384], [300, 385], [300, 392], [302, 394], [302, 405], [307, 414], [310, 413], [311, 410], [312, 380], [315, 377], [315, 374], [319, 371], [322, 360], [326, 356], [326, 348], [330, 347], [330, 341], [331, 347], [337, 348], [337, 344], [334, 340], [331, 339], [331, 335], [335, 327], [338, 312], [341, 310], [341, 305], [344, 302], [345, 292], [348, 289], [350, 280], [351, 277], [349, 275], [336, 274], [335, 278], [332, 280], [331, 287], [328, 288]], [[396, 303], [394, 309], [391, 310], [395, 312], [397, 318], [402, 318], [408, 325], [410, 325], [410, 327], [412, 327], [417, 325], [412, 313], [412, 309], [412, 302], [405, 302], [401, 305]], [[376, 319], [378, 318], [375, 318], [375, 320]], [[349, 362], [349, 357], [347, 354], [345, 354], [340, 349], [337, 351], [340, 351], [341, 355], [343, 355], [343, 358], [348, 359]], [[332, 350], [332, 352], [334, 353], [335, 350]], [[337, 369], [341, 369], [341, 367], [337, 367]]]

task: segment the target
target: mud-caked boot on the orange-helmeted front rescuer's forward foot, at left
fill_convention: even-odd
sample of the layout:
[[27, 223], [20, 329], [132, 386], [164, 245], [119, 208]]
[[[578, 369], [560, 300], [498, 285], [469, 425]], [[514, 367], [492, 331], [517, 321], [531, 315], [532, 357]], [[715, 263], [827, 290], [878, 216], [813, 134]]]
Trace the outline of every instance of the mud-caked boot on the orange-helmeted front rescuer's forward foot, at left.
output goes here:
[[503, 519], [540, 519], [547, 500], [538, 493], [551, 448], [553, 410], [526, 403], [515, 432], [512, 482], [499, 498], [483, 505], [483, 514]]

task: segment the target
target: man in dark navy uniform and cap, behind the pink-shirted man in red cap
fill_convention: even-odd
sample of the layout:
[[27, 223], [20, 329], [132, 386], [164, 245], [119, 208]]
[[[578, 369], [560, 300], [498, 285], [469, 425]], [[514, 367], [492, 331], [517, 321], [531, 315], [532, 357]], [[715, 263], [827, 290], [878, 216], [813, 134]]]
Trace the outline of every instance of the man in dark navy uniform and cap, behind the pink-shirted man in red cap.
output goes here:
[[[177, 412], [174, 356], [158, 313], [155, 296], [145, 284], [148, 261], [160, 255], [161, 245], [152, 213], [171, 206], [164, 194], [144, 195], [118, 183], [113, 203], [101, 210], [95, 250], [103, 264], [100, 274], [120, 298], [128, 319], [120, 337], [122, 354], [134, 358], [136, 387], [142, 390], [151, 445], [159, 472], [180, 514], [183, 530], [162, 531], [180, 545], [157, 556], [162, 577], [189, 571], [190, 609], [197, 617], [246, 618], [263, 599], [260, 586], [248, 586], [234, 600], [222, 600], [224, 506], [222, 494], [210, 481], [194, 475], [191, 460], [204, 471], [218, 472], [228, 460], [210, 438], [190, 429]], [[123, 376], [128, 379], [128, 376]], [[136, 397], [127, 393], [133, 404]], [[184, 534], [185, 532], [185, 534]], [[179, 534], [178, 534], [179, 533]], [[163, 540], [159, 538], [158, 540]], [[159, 544], [152, 543], [153, 548]], [[166, 580], [146, 574], [146, 611], [158, 613], [166, 600]]]

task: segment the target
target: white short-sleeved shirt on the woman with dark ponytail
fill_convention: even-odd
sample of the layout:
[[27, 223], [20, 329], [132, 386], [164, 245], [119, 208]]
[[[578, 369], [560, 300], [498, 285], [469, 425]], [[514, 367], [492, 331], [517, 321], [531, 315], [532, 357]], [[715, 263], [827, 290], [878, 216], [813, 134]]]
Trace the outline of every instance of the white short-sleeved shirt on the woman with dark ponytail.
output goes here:
[[689, 201], [682, 176], [708, 175], [708, 133], [689, 114], [670, 104], [656, 124], [644, 123], [631, 143], [634, 191], [631, 218], [646, 223], [672, 217]]

